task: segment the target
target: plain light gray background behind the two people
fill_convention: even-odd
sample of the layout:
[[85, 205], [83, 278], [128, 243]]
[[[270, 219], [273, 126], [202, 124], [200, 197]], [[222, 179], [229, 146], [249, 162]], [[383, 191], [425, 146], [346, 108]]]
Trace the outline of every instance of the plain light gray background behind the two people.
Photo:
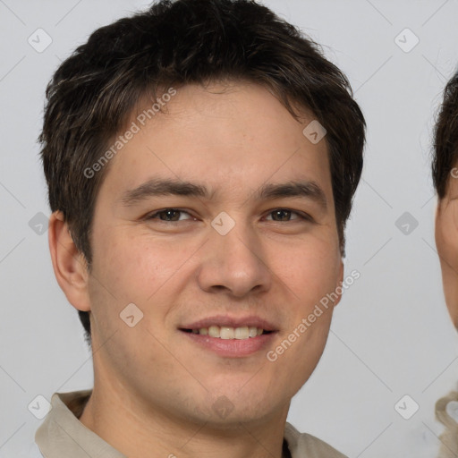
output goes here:
[[[102, 25], [146, 2], [0, 0], [0, 456], [19, 456], [39, 420], [42, 394], [92, 386], [77, 313], [52, 271], [49, 215], [36, 139], [44, 91], [60, 62]], [[347, 230], [346, 274], [360, 279], [335, 310], [327, 349], [289, 415], [301, 431], [350, 457], [431, 457], [442, 428], [437, 398], [458, 380], [458, 336], [445, 310], [434, 242], [436, 198], [429, 177], [431, 128], [445, 81], [458, 64], [458, 2], [265, 2], [323, 45], [348, 75], [368, 123], [366, 163]], [[38, 53], [28, 38], [53, 39]], [[404, 52], [409, 28], [420, 43]], [[412, 43], [404, 39], [405, 46]], [[404, 234], [396, 220], [419, 223]], [[394, 404], [420, 405], [404, 420]]]

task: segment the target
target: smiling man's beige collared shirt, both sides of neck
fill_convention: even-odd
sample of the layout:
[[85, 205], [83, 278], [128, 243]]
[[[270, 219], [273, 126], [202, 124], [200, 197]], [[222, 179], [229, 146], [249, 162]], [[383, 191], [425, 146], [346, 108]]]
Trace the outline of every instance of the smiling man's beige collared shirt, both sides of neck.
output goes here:
[[[45, 458], [126, 458], [80, 420], [92, 390], [55, 393], [51, 411], [35, 434]], [[38, 450], [34, 456], [39, 457]], [[317, 437], [301, 434], [290, 423], [284, 428], [283, 458], [346, 458]]]

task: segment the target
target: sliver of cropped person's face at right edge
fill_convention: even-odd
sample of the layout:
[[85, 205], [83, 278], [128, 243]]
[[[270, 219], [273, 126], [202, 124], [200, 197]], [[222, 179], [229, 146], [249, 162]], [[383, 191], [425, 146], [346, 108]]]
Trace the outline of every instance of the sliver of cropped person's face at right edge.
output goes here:
[[454, 327], [458, 329], [458, 178], [454, 174], [449, 177], [444, 199], [437, 205], [436, 245], [445, 302]]

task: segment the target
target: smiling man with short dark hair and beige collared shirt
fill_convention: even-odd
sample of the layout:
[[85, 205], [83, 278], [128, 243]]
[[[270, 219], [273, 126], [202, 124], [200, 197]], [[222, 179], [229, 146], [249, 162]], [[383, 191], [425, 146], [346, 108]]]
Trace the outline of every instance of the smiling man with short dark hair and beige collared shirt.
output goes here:
[[93, 390], [47, 458], [342, 457], [286, 423], [327, 341], [365, 123], [344, 74], [248, 0], [96, 30], [47, 89], [56, 279]]

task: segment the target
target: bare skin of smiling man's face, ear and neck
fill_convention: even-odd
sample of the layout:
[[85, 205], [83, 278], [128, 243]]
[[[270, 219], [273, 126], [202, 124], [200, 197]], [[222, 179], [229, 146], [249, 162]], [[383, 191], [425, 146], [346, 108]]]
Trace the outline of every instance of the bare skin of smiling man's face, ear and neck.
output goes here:
[[[57, 281], [75, 309], [91, 311], [94, 391], [81, 422], [123, 454], [281, 456], [291, 398], [318, 364], [333, 308], [275, 362], [266, 352], [344, 275], [326, 140], [312, 144], [302, 134], [312, 119], [298, 123], [267, 89], [248, 83], [177, 89], [166, 113], [111, 159], [96, 202], [91, 274], [62, 215], [51, 217]], [[120, 203], [153, 176], [203, 183], [210, 199]], [[327, 207], [253, 197], [263, 184], [292, 180], [316, 182]], [[188, 213], [174, 223], [143, 218], [164, 208]], [[295, 213], [275, 221], [276, 208], [313, 221]], [[211, 226], [222, 211], [235, 222], [224, 236]], [[135, 327], [119, 317], [131, 302], [144, 314]], [[268, 348], [227, 358], [178, 329], [216, 314], [259, 315], [278, 332]], [[212, 409], [220, 396], [233, 406], [225, 418]]]

